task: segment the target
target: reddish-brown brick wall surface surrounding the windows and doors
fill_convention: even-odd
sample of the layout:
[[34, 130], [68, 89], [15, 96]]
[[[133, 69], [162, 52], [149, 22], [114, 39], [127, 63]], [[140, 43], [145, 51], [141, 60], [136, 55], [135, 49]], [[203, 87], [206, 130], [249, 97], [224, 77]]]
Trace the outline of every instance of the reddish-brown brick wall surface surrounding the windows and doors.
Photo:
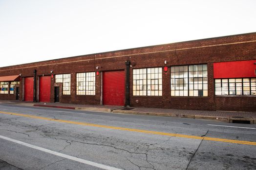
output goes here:
[[[130, 106], [195, 110], [256, 111], [256, 96], [215, 96], [213, 79], [213, 63], [215, 62], [255, 59], [256, 33], [249, 33], [2, 67], [0, 68], [0, 76], [21, 74], [20, 100], [22, 100], [24, 99], [22, 96], [24, 95], [23, 78], [34, 76], [34, 70], [37, 70], [36, 82], [38, 82], [39, 76], [70, 73], [71, 94], [61, 95], [60, 93], [60, 102], [100, 105], [102, 95], [102, 71], [127, 71], [125, 62], [129, 60], [132, 65], [132, 67], [130, 67], [129, 77]], [[164, 63], [165, 61], [167, 61], [167, 64]], [[207, 64], [208, 66], [208, 97], [172, 97], [170, 67], [193, 64]], [[101, 68], [96, 69], [97, 66]], [[165, 66], [168, 67], [168, 71], [163, 71], [162, 74], [162, 96], [132, 95], [132, 69], [163, 68]], [[50, 72], [51, 70], [53, 70], [53, 73]], [[76, 73], [92, 71], [100, 71], [100, 75], [96, 75], [96, 95], [76, 95]], [[60, 89], [62, 89], [62, 85], [55, 83], [54, 78], [51, 78], [51, 102], [54, 102], [54, 86], [60, 86]], [[0, 94], [0, 99], [16, 100], [16, 95]]]

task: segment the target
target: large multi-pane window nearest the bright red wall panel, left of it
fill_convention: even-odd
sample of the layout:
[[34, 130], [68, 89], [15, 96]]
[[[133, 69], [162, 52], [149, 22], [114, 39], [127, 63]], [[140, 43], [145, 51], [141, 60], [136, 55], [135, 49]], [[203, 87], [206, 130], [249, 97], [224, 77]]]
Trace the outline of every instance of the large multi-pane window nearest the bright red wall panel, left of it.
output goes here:
[[208, 96], [207, 64], [171, 67], [171, 96]]

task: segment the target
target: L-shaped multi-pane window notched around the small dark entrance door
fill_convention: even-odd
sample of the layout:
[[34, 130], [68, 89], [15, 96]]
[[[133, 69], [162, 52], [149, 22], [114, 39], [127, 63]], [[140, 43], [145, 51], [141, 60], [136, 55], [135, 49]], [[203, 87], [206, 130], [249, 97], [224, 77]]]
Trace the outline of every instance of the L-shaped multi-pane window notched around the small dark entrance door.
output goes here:
[[55, 83], [63, 83], [63, 95], [70, 95], [70, 74], [56, 74]]

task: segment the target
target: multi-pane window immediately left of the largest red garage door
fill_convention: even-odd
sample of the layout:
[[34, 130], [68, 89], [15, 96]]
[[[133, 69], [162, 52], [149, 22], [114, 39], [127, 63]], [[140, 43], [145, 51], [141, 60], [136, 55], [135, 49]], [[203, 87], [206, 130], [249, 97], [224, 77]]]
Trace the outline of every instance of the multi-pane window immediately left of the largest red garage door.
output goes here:
[[95, 72], [76, 74], [76, 94], [95, 95]]

